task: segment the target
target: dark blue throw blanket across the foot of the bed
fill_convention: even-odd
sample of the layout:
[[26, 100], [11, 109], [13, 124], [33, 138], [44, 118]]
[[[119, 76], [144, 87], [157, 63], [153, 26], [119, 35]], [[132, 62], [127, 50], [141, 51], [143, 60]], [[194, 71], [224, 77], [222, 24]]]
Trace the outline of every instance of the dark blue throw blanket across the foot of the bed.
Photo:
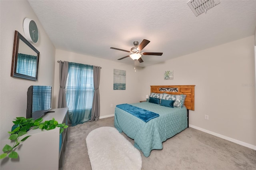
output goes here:
[[132, 106], [129, 104], [116, 105], [116, 107], [138, 117], [139, 119], [141, 119], [144, 122], [148, 122], [151, 119], [154, 119], [159, 116], [157, 113], [147, 111], [145, 109], [141, 109], [139, 107], [135, 107], [135, 106]]

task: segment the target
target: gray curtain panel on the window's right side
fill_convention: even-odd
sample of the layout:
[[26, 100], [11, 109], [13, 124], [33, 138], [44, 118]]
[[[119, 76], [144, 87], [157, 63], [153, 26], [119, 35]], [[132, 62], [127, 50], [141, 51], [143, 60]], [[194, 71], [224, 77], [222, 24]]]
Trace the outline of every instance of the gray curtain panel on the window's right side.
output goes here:
[[93, 83], [94, 83], [94, 96], [92, 101], [92, 116], [91, 122], [98, 121], [100, 118], [100, 67], [93, 66]]

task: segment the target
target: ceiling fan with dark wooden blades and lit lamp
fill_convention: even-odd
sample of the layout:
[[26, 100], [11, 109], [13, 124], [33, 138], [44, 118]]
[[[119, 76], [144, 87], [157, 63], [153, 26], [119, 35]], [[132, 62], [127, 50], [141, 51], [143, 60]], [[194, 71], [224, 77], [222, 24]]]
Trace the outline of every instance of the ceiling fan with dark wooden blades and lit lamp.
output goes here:
[[131, 48], [131, 51], [128, 51], [128, 50], [125, 50], [125, 49], [119, 49], [119, 48], [115, 48], [115, 47], [110, 47], [111, 49], [117, 49], [117, 50], [120, 50], [120, 51], [125, 51], [125, 52], [128, 52], [128, 53], [132, 53], [130, 55], [126, 55], [125, 57], [122, 57], [118, 60], [121, 60], [121, 59], [124, 59], [126, 57], [131, 57], [131, 59], [133, 60], [138, 60], [140, 63], [143, 62], [141, 56], [142, 55], [162, 55], [163, 53], [151, 53], [151, 52], [142, 52], [141, 53], [141, 50], [146, 47], [146, 45], [148, 45], [148, 43], [150, 43], [150, 41], [148, 40], [143, 40], [140, 45], [139, 45], [139, 42], [135, 41], [133, 42], [133, 44], [135, 45], [135, 47], [132, 47]]

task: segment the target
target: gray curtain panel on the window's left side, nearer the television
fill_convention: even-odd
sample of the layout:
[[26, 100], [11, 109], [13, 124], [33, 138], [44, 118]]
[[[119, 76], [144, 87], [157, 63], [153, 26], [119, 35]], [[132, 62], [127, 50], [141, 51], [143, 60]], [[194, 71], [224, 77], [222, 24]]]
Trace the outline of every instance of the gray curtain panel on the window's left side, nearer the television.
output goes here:
[[58, 108], [67, 107], [65, 87], [68, 77], [68, 61], [60, 61], [60, 91], [58, 98]]

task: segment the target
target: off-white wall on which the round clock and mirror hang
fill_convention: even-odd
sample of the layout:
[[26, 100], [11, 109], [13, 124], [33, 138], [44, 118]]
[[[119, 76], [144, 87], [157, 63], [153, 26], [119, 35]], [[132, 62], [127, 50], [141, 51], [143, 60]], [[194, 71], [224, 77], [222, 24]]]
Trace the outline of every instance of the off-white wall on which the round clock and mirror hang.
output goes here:
[[[54, 85], [55, 47], [45, 33], [27, 1], [0, 1], [0, 139], [8, 138], [15, 117], [26, 117], [27, 90], [30, 85]], [[24, 36], [23, 20], [28, 17], [36, 22], [40, 51], [38, 81], [10, 76], [14, 31]]]

